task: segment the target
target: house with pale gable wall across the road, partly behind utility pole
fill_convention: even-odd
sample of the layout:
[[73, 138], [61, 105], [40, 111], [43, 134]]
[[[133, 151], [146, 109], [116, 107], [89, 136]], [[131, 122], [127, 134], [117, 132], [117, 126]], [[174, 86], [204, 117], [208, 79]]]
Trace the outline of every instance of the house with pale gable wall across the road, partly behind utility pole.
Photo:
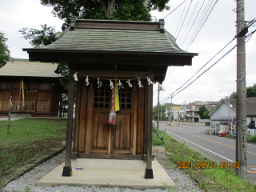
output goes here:
[[[218, 102], [213, 110], [210, 111], [211, 127], [214, 128], [217, 123], [226, 123], [233, 128], [236, 125], [236, 99], [223, 99]], [[255, 129], [256, 121], [256, 98], [246, 98], [246, 125], [247, 128]]]

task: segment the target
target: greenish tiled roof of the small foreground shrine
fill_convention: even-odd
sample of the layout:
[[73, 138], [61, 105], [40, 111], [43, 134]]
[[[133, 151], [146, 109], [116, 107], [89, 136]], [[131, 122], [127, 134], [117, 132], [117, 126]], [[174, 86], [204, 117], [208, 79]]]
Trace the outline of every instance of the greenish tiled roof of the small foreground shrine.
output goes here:
[[159, 22], [76, 20], [74, 30], [66, 30], [56, 42], [24, 50], [197, 55], [181, 50], [175, 38], [158, 26]]

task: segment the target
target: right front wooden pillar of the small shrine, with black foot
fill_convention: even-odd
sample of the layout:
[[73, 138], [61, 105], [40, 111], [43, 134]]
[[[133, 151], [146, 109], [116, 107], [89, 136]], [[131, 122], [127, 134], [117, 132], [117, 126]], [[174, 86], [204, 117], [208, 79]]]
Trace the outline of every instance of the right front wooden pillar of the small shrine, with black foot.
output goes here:
[[[150, 80], [153, 81], [154, 65], [149, 65]], [[145, 178], [154, 178], [152, 169], [152, 112], [153, 112], [153, 85], [147, 89], [147, 140], [146, 140], [146, 170]]]

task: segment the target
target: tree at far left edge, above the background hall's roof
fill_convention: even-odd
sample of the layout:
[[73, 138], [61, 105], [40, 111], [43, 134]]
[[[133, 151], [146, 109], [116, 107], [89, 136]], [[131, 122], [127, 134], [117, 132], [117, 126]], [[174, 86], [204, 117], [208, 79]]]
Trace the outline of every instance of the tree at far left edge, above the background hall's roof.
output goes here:
[[8, 38], [5, 38], [5, 36], [6, 34], [0, 31], [0, 68], [6, 65], [6, 62], [9, 62], [11, 59], [10, 50], [6, 45], [6, 41], [8, 40]]

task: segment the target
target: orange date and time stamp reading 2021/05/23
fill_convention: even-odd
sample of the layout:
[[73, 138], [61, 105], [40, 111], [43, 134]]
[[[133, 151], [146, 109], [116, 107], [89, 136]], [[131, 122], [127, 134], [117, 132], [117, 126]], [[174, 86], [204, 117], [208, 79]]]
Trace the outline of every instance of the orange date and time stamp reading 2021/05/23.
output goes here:
[[[239, 162], [220, 162], [219, 167], [221, 169], [227, 168], [239, 168]], [[190, 168], [198, 168], [198, 169], [215, 169], [217, 168], [217, 162], [178, 162], [179, 169], [190, 169]]]

